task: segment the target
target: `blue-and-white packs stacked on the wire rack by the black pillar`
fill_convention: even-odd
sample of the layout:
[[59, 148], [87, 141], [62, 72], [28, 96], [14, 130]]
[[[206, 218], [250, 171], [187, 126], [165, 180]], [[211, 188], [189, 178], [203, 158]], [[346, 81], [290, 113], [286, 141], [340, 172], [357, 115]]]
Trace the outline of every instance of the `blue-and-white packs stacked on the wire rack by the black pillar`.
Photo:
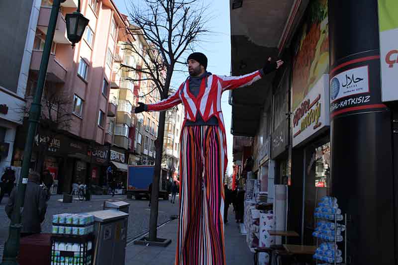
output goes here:
[[319, 207], [315, 208], [314, 216], [318, 219], [333, 220], [333, 221], [318, 221], [316, 223], [315, 231], [312, 236], [324, 241], [324, 243], [317, 245], [313, 258], [325, 262], [325, 264], [342, 263], [343, 258], [341, 250], [335, 242], [343, 241], [342, 231], [345, 231], [345, 226], [338, 224], [337, 221], [343, 220], [341, 210], [338, 208], [337, 199], [335, 197], [322, 197]]

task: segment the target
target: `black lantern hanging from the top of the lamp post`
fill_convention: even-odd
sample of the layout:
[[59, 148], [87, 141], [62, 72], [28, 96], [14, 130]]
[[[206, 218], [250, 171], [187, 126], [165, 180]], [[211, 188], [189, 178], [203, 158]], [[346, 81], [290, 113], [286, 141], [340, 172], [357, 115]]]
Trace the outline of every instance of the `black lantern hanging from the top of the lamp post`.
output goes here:
[[89, 24], [89, 19], [80, 12], [80, 0], [76, 12], [66, 14], [65, 20], [68, 40], [72, 42], [72, 48], [74, 48], [75, 43], [78, 43], [82, 39], [84, 30]]

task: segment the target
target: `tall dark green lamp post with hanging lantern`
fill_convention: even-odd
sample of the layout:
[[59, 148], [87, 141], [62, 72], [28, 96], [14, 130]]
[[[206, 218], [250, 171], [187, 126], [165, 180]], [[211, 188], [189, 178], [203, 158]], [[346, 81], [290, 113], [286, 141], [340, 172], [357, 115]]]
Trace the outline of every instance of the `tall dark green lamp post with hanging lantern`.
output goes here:
[[[28, 119], [29, 127], [26, 137], [25, 149], [23, 152], [21, 176], [19, 177], [17, 183], [17, 194], [11, 214], [11, 223], [9, 226], [8, 239], [4, 245], [3, 261], [1, 265], [18, 264], [16, 261], [16, 257], [19, 251], [19, 233], [22, 228], [21, 208], [23, 209], [23, 204], [25, 200], [25, 190], [26, 190], [26, 183], [28, 180], [27, 177], [29, 174], [30, 159], [32, 156], [33, 139], [36, 133], [37, 124], [39, 123], [40, 120], [40, 112], [41, 112], [40, 102], [43, 94], [44, 83], [46, 80], [48, 60], [50, 58], [51, 45], [54, 39], [58, 13], [61, 2], [65, 1], [66, 0], [54, 0], [53, 6], [51, 8], [51, 15], [50, 15], [50, 20], [48, 22], [47, 36], [46, 36], [46, 41], [44, 43], [43, 55], [40, 62], [39, 76], [37, 79], [37, 88], [33, 98], [32, 105], [29, 110], [29, 119]], [[68, 17], [69, 14], [67, 15], [67, 18], [70, 18], [70, 21], [67, 22], [68, 38], [69, 38], [69, 33], [71, 33], [72, 39], [70, 39], [70, 41], [72, 42], [72, 46], [74, 46], [75, 43], [80, 41], [84, 29], [86, 28], [89, 22], [89, 20], [85, 18], [79, 11], [80, 11], [80, 0], [78, 3], [77, 12], [70, 14], [69, 17]], [[73, 26], [74, 22], [76, 23], [76, 25], [72, 29], [68, 28], [68, 24], [69, 26], [71, 25]]]

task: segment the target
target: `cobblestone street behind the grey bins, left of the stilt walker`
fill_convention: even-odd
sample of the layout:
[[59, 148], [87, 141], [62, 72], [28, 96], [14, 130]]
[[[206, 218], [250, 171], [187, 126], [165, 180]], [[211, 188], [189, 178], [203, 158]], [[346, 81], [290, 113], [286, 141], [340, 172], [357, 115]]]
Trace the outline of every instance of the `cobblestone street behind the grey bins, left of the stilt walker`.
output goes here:
[[[178, 197], [177, 197], [178, 198]], [[0, 204], [0, 261], [3, 253], [4, 242], [8, 237], [9, 219], [4, 212], [4, 206], [7, 203], [7, 197], [4, 197]], [[150, 208], [148, 200], [127, 200], [124, 195], [94, 195], [91, 201], [80, 201], [77, 198], [73, 203], [62, 203], [62, 195], [55, 195], [48, 201], [46, 219], [42, 224], [42, 231], [51, 232], [52, 215], [59, 213], [82, 213], [102, 210], [104, 200], [123, 200], [130, 203], [130, 216], [128, 218], [127, 240], [132, 240], [138, 235], [146, 232], [149, 225]], [[170, 200], [159, 200], [158, 224], [162, 224], [170, 219], [171, 215], [178, 215], [178, 201], [171, 204]]]

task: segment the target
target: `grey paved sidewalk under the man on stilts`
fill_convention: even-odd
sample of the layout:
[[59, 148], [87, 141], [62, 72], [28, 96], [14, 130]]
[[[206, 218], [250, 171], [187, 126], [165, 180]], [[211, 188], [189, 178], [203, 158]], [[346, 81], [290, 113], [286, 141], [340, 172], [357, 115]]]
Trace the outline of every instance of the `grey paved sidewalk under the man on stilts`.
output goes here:
[[[176, 255], [178, 219], [158, 229], [159, 238], [171, 239], [164, 247], [146, 247], [131, 243], [126, 248], [126, 265], [173, 265]], [[225, 225], [225, 252], [227, 265], [253, 264], [253, 254], [246, 244], [246, 237], [240, 235], [235, 223]]]

